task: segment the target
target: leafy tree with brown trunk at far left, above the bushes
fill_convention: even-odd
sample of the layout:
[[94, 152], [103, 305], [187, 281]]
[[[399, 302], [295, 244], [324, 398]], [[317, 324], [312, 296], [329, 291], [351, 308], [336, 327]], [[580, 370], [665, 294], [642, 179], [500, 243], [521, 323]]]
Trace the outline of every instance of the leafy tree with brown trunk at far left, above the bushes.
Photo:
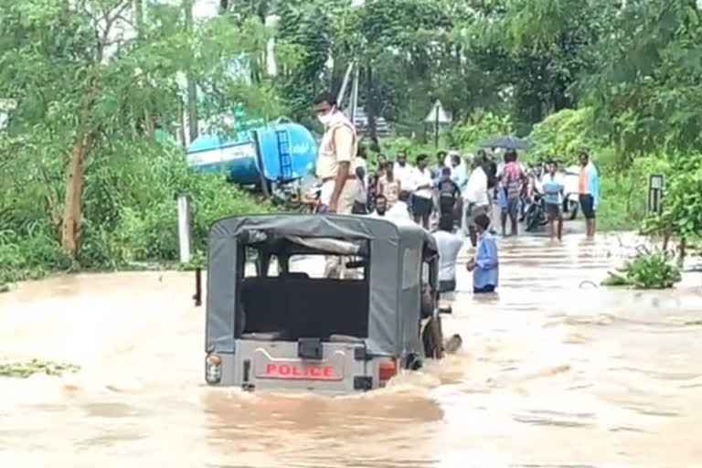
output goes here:
[[[130, 33], [135, 14], [138, 35]], [[182, 75], [205, 90], [210, 114], [236, 102], [274, 112], [270, 86], [251, 86], [229, 72], [233, 60], [260, 52], [250, 36], [261, 28], [232, 28], [224, 18], [190, 25], [180, 6], [144, 12], [132, 0], [0, 0], [0, 96], [17, 101], [5, 138], [16, 142], [10, 147], [37, 148], [36, 159], [21, 164], [45, 181], [40, 191], [64, 250], [72, 256], [80, 250], [90, 156], [149, 134], [145, 115], [158, 114], [165, 125], [176, 121]], [[24, 176], [18, 162], [7, 164]], [[59, 170], [62, 204], [50, 184]]]

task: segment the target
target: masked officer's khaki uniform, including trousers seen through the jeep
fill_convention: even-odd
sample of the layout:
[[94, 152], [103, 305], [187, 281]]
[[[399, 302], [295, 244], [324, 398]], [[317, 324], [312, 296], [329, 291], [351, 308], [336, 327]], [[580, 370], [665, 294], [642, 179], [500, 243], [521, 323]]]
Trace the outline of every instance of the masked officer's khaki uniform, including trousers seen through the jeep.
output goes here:
[[[354, 125], [342, 113], [335, 116], [335, 121], [324, 131], [322, 142], [319, 144], [317, 157], [317, 177], [322, 180], [321, 202], [329, 205], [334, 192], [336, 174], [339, 163], [348, 162], [348, 178], [339, 194], [336, 213], [350, 215], [354, 201], [360, 188], [356, 178], [356, 151], [358, 139]], [[346, 271], [346, 258], [341, 256], [327, 256], [325, 276], [327, 278], [353, 277], [352, 271]]]

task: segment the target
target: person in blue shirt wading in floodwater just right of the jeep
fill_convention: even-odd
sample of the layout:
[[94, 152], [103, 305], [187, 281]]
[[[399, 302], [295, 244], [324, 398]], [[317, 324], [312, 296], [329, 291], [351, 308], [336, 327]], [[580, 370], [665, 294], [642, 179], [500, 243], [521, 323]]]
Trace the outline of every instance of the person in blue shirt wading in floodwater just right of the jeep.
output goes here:
[[482, 213], [475, 217], [478, 231], [478, 247], [475, 257], [468, 261], [466, 268], [473, 271], [473, 294], [494, 293], [498, 282], [499, 260], [495, 237], [487, 230], [490, 217]]

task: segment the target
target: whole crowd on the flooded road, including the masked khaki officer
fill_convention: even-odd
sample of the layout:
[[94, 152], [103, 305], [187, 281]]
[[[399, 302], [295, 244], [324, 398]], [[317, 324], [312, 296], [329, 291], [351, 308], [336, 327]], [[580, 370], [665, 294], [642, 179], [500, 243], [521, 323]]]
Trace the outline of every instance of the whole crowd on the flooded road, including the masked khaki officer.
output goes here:
[[[466, 264], [467, 270], [473, 271], [473, 292], [494, 292], [499, 267], [495, 229], [491, 228], [495, 203], [502, 235], [516, 236], [524, 200], [534, 188], [516, 150], [479, 150], [471, 158], [463, 158], [455, 150], [439, 151], [433, 164], [428, 154], [418, 154], [415, 165], [403, 151], [395, 154], [394, 160], [378, 154], [376, 168], [370, 171], [354, 125], [337, 109], [335, 98], [321, 94], [314, 101], [314, 110], [324, 124], [317, 161], [324, 211], [413, 219], [424, 229], [433, 230], [440, 253], [442, 292], [455, 289], [456, 259], [468, 238], [475, 250]], [[580, 154], [580, 165], [580, 207], [587, 235], [592, 237], [599, 178], [587, 153]], [[548, 162], [539, 185], [551, 235], [561, 239], [564, 184], [557, 162]], [[431, 229], [434, 225], [437, 229]]]

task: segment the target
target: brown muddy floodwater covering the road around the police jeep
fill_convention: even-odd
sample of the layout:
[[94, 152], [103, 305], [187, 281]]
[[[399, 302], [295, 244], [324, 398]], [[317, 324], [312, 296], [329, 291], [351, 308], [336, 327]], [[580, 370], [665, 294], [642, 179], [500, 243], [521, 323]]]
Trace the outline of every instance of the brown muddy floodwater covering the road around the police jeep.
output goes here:
[[616, 237], [500, 250], [497, 296], [460, 269], [458, 355], [341, 398], [207, 388], [191, 273], [24, 283], [0, 295], [0, 361], [81, 370], [0, 378], [0, 466], [702, 466], [699, 274], [605, 290]]

